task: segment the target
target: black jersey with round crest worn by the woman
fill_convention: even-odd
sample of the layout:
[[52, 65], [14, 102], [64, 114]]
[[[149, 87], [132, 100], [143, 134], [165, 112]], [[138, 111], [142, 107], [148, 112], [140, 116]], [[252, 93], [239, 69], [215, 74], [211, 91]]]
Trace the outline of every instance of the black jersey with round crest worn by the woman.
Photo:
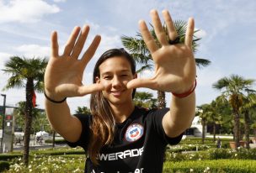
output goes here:
[[[93, 165], [87, 158], [86, 173], [160, 173], [163, 171], [163, 157], [167, 144], [178, 144], [183, 134], [169, 138], [163, 130], [163, 116], [168, 108], [146, 110], [136, 107], [123, 123], [116, 124], [115, 139], [104, 146]], [[89, 125], [92, 116], [76, 115], [83, 125], [80, 139], [69, 143], [71, 147], [88, 149]]]

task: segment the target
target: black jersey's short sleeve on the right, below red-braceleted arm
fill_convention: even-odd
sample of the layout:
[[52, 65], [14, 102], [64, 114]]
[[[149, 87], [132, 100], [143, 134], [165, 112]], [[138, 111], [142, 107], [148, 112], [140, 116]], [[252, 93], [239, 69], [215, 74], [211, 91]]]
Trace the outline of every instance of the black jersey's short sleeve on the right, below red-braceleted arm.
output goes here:
[[162, 108], [162, 109], [155, 109], [152, 112], [152, 123], [153, 127], [155, 128], [157, 134], [161, 139], [163, 139], [163, 143], [165, 144], [179, 144], [180, 140], [183, 137], [183, 134], [179, 134], [179, 136], [170, 138], [168, 135], [165, 134], [164, 129], [163, 129], [163, 116], [168, 113], [169, 108]]

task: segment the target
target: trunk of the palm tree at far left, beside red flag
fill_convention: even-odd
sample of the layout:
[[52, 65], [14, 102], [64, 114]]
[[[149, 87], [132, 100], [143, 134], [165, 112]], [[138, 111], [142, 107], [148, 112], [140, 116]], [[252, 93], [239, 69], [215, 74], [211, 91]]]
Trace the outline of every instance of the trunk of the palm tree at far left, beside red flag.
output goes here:
[[32, 123], [32, 92], [34, 90], [33, 79], [28, 79], [26, 83], [26, 106], [25, 106], [25, 130], [24, 130], [24, 165], [29, 165], [29, 141]]

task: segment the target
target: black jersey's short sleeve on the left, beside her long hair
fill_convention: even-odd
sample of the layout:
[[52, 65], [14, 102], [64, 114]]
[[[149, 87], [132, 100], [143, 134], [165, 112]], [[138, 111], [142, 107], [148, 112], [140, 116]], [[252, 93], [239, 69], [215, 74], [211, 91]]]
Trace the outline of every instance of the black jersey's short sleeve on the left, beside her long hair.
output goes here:
[[82, 133], [80, 135], [80, 138], [75, 143], [71, 143], [67, 141], [67, 144], [75, 148], [77, 146], [82, 147], [85, 151], [88, 149], [88, 142], [89, 142], [89, 132], [90, 132], [90, 123], [91, 123], [91, 115], [85, 115], [85, 114], [75, 114], [75, 117], [77, 117], [80, 122], [82, 123]]

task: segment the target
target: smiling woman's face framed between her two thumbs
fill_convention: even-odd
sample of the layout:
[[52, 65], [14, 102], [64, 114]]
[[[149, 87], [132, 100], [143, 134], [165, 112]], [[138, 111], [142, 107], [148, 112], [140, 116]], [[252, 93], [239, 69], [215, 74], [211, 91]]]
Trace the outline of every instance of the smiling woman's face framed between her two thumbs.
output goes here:
[[114, 56], [99, 66], [99, 77], [96, 82], [102, 83], [107, 89], [103, 95], [110, 104], [126, 104], [132, 102], [133, 89], [127, 89], [128, 81], [136, 78], [131, 72], [131, 64], [121, 56]]

